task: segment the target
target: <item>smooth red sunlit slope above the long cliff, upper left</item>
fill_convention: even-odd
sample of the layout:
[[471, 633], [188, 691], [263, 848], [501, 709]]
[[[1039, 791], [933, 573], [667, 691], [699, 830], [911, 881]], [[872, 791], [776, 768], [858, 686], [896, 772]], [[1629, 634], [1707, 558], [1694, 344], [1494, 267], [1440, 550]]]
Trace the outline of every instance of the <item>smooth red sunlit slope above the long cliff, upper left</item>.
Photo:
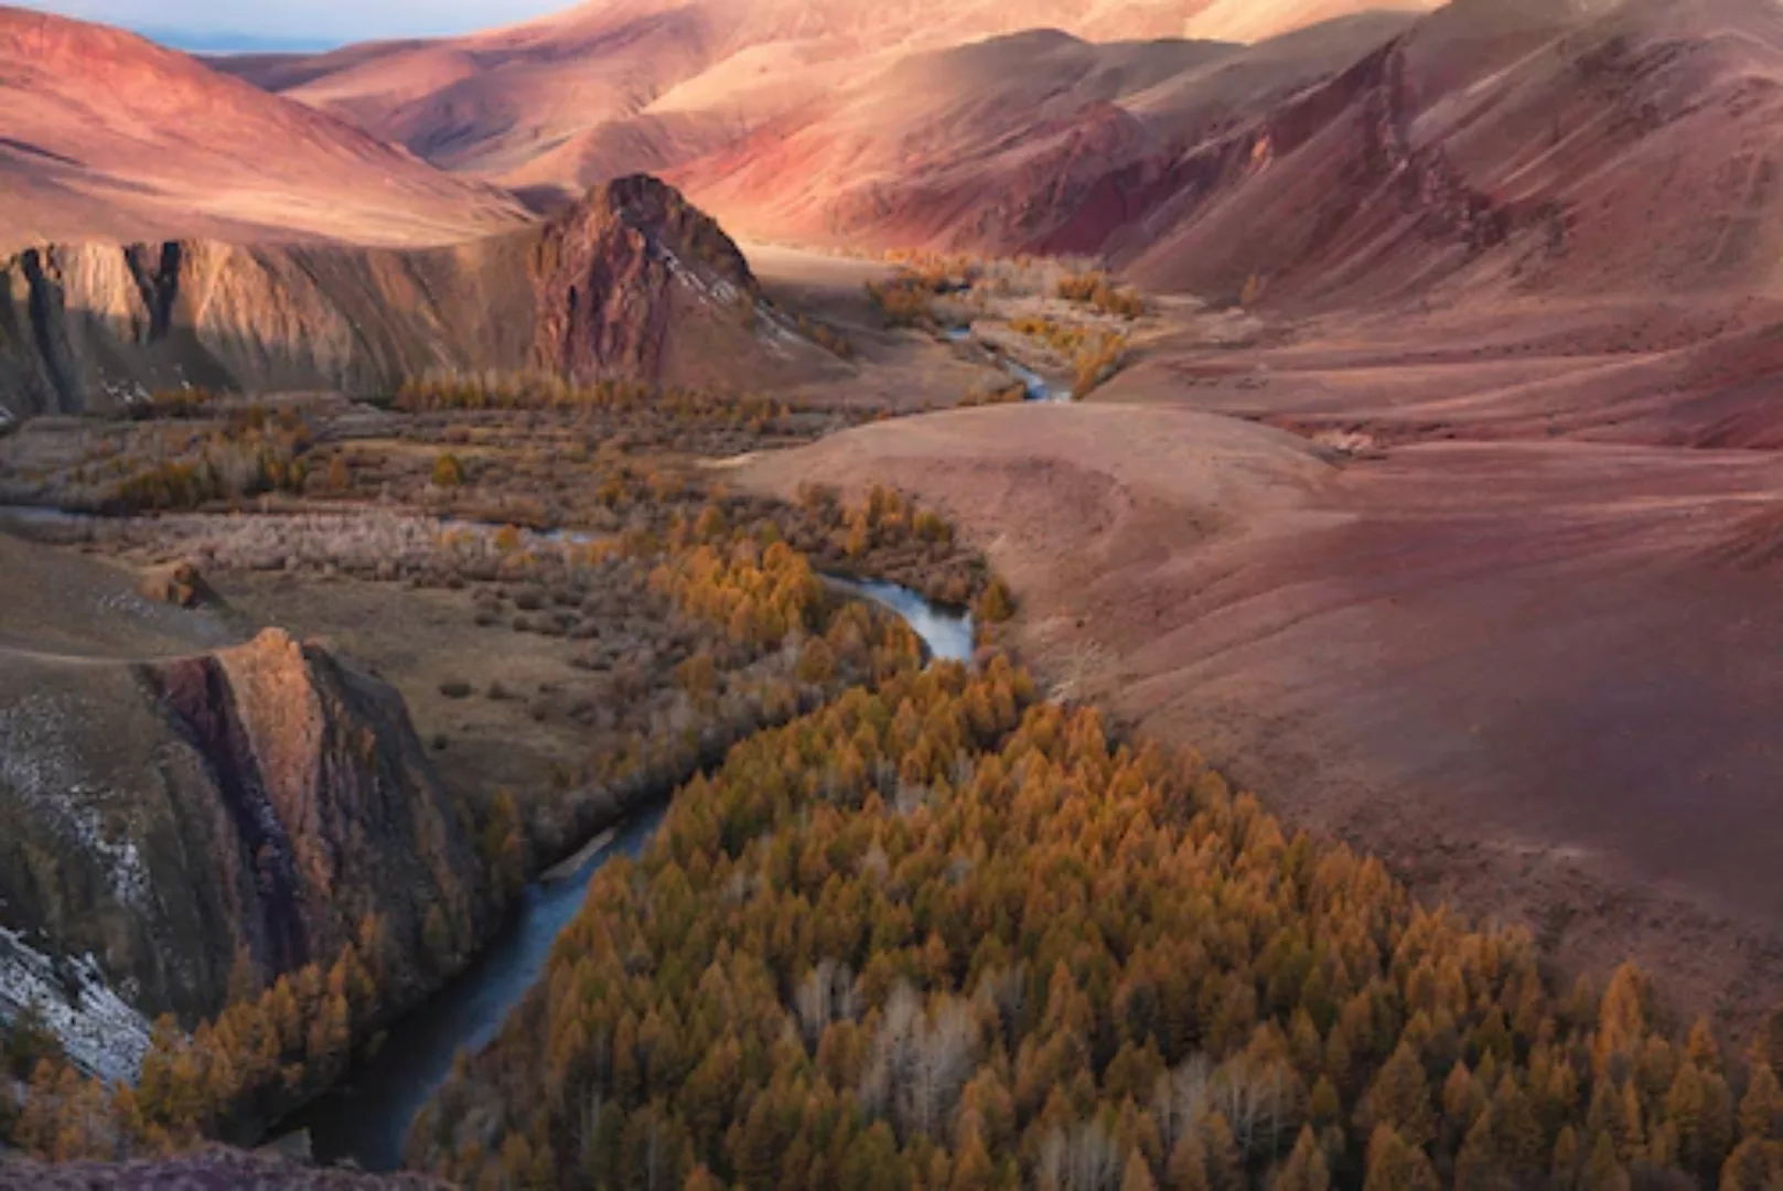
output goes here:
[[515, 201], [103, 25], [0, 7], [0, 250], [64, 239], [426, 244]]

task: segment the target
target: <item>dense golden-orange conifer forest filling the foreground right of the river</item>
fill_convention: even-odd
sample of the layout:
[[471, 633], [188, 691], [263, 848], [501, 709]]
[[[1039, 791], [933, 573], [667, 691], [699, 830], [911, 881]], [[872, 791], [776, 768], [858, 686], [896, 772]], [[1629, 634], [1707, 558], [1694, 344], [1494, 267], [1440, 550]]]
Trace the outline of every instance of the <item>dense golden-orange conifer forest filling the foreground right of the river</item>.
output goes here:
[[469, 1187], [1760, 1187], [1735, 1061], [1624, 966], [1425, 909], [1006, 661], [856, 688], [615, 863], [412, 1136]]

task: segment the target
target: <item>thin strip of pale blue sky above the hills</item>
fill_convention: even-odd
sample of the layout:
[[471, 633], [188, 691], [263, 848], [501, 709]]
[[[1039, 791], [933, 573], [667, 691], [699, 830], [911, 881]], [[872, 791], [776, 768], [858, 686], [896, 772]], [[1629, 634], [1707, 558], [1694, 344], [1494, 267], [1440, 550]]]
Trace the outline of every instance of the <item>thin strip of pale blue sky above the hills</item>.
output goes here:
[[125, 29], [341, 45], [512, 25], [572, 0], [14, 0]]

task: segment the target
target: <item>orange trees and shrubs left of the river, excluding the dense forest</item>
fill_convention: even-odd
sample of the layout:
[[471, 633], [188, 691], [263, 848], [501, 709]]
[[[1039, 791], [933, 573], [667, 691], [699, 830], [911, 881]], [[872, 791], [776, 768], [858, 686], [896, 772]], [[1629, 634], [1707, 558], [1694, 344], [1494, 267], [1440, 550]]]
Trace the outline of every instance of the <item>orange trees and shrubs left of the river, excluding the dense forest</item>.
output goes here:
[[[341, 508], [371, 490], [419, 505], [469, 497], [499, 506], [510, 489], [549, 490], [535, 483], [538, 472], [592, 472], [583, 487], [604, 513], [604, 530], [553, 540], [512, 524], [460, 524], [407, 538], [415, 549], [405, 551], [374, 535], [355, 538], [351, 513], [100, 522], [125, 535], [112, 546], [134, 542], [132, 549], [150, 553], [184, 551], [191, 546], [185, 531], [210, 535], [207, 569], [225, 588], [232, 572], [255, 565], [255, 542], [271, 535], [285, 574], [339, 569], [355, 576], [349, 581], [392, 585], [398, 601], [396, 585], [431, 587], [460, 599], [464, 620], [476, 631], [503, 628], [565, 640], [563, 669], [585, 681], [579, 694], [569, 683], [538, 695], [492, 685], [487, 699], [530, 699], [533, 719], [563, 720], [585, 742], [585, 760], [555, 770], [537, 788], [458, 792], [497, 904], [512, 902], [531, 872], [629, 808], [715, 763], [735, 740], [918, 665], [918, 642], [902, 622], [845, 597], [820, 569], [897, 578], [936, 597], [979, 601], [993, 620], [1007, 615], [1007, 590], [990, 579], [982, 560], [943, 519], [897, 492], [874, 490], [861, 505], [826, 489], [808, 489], [797, 503], [742, 497], [711, 483], [710, 469], [654, 444], [615, 446], [610, 437], [603, 439], [604, 453], [551, 458], [524, 426], [512, 426], [510, 392], [464, 398], [469, 412], [401, 415], [394, 439], [348, 439], [341, 412], [223, 412], [196, 398], [164, 417], [200, 442], [266, 426], [301, 428], [292, 440], [310, 446], [349, 440], [355, 464], [314, 494]], [[405, 401], [433, 405], [414, 394]], [[626, 396], [578, 396], [574, 403], [585, 414], [624, 405]], [[694, 437], [713, 421], [756, 417], [754, 407], [720, 412], [717, 403], [692, 412], [676, 403], [651, 408], [638, 401], [631, 408], [651, 410], [644, 421], [667, 417]], [[583, 433], [599, 430], [576, 421], [565, 430]], [[412, 449], [435, 442], [456, 444], [456, 453]], [[75, 471], [80, 467], [87, 464]], [[328, 471], [341, 469], [305, 474]], [[86, 481], [73, 472], [48, 476], [52, 485]], [[542, 505], [538, 521], [578, 512], [587, 510]], [[301, 526], [312, 521], [328, 530], [305, 537]], [[453, 699], [472, 694], [469, 681], [448, 686]], [[431, 909], [424, 936], [442, 965], [458, 956], [460, 932], [440, 908]], [[294, 972], [267, 973], [241, 956], [219, 1016], [155, 1023], [136, 1088], [84, 1077], [59, 1054], [41, 1018], [25, 1013], [5, 1032], [0, 1139], [57, 1161], [159, 1154], [209, 1138], [253, 1141], [269, 1121], [339, 1079], [355, 1048], [374, 1041], [390, 1016], [387, 959], [376, 918], [367, 918], [339, 956]]]

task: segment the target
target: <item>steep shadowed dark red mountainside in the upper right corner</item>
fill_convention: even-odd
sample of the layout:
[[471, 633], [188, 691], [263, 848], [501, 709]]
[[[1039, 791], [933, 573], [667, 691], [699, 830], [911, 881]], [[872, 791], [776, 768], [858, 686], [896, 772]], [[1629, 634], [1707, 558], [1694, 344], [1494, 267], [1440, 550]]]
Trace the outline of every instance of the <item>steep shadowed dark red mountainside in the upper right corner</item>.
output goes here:
[[1763, 0], [1464, 0], [1175, 162], [1214, 184], [1116, 242], [1143, 282], [1302, 307], [1763, 289], [1779, 80]]

